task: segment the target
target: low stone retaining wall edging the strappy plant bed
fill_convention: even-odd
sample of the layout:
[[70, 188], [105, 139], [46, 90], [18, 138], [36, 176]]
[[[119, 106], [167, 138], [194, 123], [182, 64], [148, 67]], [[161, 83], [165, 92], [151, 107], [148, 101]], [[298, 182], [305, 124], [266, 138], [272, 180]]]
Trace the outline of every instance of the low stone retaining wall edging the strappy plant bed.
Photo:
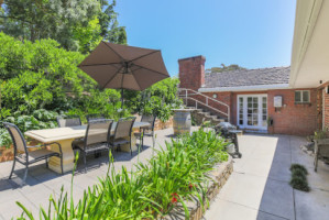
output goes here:
[[[210, 176], [213, 180], [211, 180], [207, 186], [208, 191], [206, 196], [209, 202], [219, 194], [220, 189], [227, 183], [232, 172], [233, 172], [233, 161], [231, 156], [229, 156], [229, 160], [227, 162], [218, 164], [213, 167], [213, 170], [210, 173]], [[198, 200], [198, 198], [194, 198], [193, 201], [186, 201], [185, 204], [189, 210], [190, 220], [201, 220], [202, 215], [205, 213], [202, 208], [205, 208], [205, 211], [208, 208], [206, 199], [204, 199], [204, 207], [201, 207], [201, 204]], [[177, 205], [177, 207], [175, 207], [169, 215], [162, 217], [160, 219], [162, 220], [186, 219], [183, 206]]]

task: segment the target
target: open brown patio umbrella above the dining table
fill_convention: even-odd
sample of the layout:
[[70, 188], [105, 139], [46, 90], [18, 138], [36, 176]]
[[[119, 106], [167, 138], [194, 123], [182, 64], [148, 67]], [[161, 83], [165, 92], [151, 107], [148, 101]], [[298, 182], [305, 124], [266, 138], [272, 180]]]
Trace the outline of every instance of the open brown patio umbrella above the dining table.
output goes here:
[[125, 46], [108, 42], [100, 44], [78, 65], [101, 88], [142, 91], [169, 77], [161, 51]]

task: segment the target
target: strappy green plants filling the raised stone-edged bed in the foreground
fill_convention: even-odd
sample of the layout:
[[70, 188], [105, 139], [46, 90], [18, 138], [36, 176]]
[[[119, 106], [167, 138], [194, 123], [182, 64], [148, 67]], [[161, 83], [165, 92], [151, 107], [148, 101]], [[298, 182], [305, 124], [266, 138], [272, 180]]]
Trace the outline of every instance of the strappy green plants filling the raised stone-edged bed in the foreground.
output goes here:
[[[46, 211], [40, 209], [40, 219], [154, 219], [168, 213], [178, 202], [193, 196], [202, 202], [207, 175], [213, 165], [228, 160], [224, 141], [213, 132], [200, 130], [166, 143], [146, 164], [139, 163], [135, 172], [124, 167], [116, 173], [110, 164], [108, 175], [98, 185], [85, 190], [77, 204], [62, 190], [57, 201], [51, 197]], [[76, 160], [77, 161], [77, 160]], [[110, 154], [110, 161], [113, 162]], [[74, 189], [73, 189], [74, 190]], [[34, 219], [20, 202], [22, 219]]]

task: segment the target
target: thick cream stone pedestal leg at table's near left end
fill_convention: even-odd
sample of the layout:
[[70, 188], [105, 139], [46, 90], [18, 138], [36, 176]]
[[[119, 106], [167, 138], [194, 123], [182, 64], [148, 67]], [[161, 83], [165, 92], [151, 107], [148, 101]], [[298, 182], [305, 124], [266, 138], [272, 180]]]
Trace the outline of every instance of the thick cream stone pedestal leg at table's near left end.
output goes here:
[[[64, 173], [70, 172], [74, 168], [74, 152], [72, 148], [72, 142], [74, 139], [58, 141], [57, 143], [62, 146], [63, 152], [63, 170]], [[52, 146], [53, 151], [58, 152], [58, 147], [56, 145]], [[61, 158], [56, 156], [52, 156], [48, 162], [48, 166], [52, 170], [56, 173], [62, 173], [61, 170]]]

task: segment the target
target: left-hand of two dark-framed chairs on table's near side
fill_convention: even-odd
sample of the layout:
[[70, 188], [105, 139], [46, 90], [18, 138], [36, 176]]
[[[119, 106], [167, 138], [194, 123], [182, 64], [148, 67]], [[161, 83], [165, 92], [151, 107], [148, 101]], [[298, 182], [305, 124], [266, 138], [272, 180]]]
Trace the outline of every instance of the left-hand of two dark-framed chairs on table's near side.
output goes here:
[[92, 120], [88, 123], [84, 140], [74, 143], [84, 155], [85, 172], [87, 172], [87, 155], [109, 150], [109, 138], [113, 120]]

